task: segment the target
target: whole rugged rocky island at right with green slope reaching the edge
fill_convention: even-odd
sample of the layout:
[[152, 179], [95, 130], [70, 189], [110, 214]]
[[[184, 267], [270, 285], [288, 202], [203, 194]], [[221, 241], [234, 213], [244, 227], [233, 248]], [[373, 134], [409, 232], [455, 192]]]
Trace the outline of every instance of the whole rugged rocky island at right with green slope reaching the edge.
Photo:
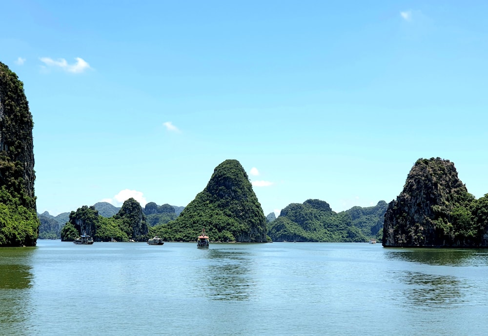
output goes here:
[[388, 205], [383, 245], [487, 247], [487, 214], [487, 196], [469, 194], [454, 163], [420, 158]]

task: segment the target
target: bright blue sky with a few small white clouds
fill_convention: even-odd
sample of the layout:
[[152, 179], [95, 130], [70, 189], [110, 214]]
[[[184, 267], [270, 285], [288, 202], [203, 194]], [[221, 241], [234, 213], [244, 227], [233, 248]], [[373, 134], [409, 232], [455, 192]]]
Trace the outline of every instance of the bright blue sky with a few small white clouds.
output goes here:
[[418, 158], [488, 193], [488, 2], [3, 0], [39, 213], [186, 206], [237, 159], [264, 211], [395, 199]]

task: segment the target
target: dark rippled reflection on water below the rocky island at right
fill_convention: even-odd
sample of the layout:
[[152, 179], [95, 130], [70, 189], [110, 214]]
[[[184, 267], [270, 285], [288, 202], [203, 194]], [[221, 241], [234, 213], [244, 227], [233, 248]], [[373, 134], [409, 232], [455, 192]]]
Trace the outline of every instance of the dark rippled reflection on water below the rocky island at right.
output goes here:
[[488, 266], [487, 250], [386, 249], [390, 261], [407, 262], [389, 273], [389, 281], [403, 283], [396, 298], [407, 308], [432, 310], [472, 306], [481, 300], [481, 269]]

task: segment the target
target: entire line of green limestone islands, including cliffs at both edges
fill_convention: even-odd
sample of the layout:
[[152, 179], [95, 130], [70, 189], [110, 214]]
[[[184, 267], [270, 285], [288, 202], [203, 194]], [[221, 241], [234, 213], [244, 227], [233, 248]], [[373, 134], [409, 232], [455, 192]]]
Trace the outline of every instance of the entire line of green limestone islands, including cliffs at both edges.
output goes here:
[[366, 242], [385, 247], [488, 247], [488, 194], [475, 198], [454, 163], [420, 158], [400, 195], [389, 203], [336, 213], [319, 199], [291, 203], [265, 216], [238, 160], [217, 165], [186, 206], [122, 207], [100, 202], [56, 217], [38, 214], [34, 195], [33, 119], [23, 83], [0, 62], [0, 246], [34, 246], [37, 239], [75, 241], [197, 241], [202, 228], [218, 242]]

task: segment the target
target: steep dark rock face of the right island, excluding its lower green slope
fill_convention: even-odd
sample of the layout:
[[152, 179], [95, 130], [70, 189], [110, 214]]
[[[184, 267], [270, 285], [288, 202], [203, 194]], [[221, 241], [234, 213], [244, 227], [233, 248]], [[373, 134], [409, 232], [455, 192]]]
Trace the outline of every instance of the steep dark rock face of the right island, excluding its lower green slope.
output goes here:
[[454, 209], [468, 208], [473, 197], [458, 178], [454, 163], [419, 159], [402, 193], [388, 204], [383, 246], [456, 246]]

